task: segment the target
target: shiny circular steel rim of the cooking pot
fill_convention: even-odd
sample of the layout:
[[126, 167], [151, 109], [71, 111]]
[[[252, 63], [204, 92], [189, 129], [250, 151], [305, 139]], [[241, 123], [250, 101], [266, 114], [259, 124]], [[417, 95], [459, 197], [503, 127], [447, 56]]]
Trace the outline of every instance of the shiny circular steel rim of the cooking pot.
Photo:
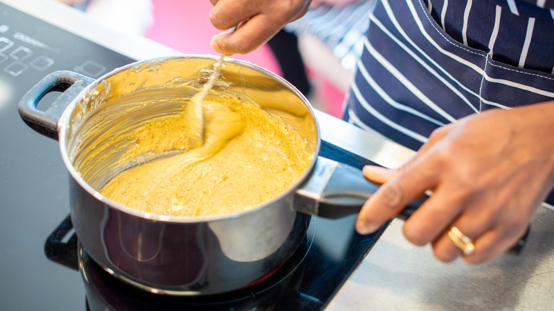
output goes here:
[[121, 204], [119, 202], [116, 202], [114, 200], [109, 199], [108, 197], [105, 197], [97, 190], [94, 190], [92, 186], [86, 182], [81, 175], [75, 170], [73, 164], [71, 163], [71, 160], [69, 158], [69, 155], [67, 153], [67, 147], [65, 146], [65, 138], [67, 136], [67, 124], [69, 124], [70, 116], [72, 111], [75, 109], [77, 104], [80, 102], [80, 99], [82, 99], [83, 95], [90, 91], [90, 89], [96, 88], [97, 85], [102, 82], [102, 80], [107, 79], [108, 77], [111, 77], [112, 75], [115, 75], [118, 72], [121, 72], [123, 70], [128, 70], [133, 67], [151, 64], [155, 62], [164, 62], [168, 60], [177, 60], [177, 59], [188, 59], [188, 58], [202, 58], [207, 60], [214, 60], [217, 61], [219, 59], [219, 56], [215, 55], [207, 55], [207, 54], [182, 54], [182, 55], [173, 55], [173, 56], [166, 56], [162, 58], [154, 58], [151, 60], [139, 60], [137, 62], [131, 62], [128, 65], [124, 65], [121, 67], [117, 67], [114, 70], [107, 72], [106, 74], [102, 75], [102, 77], [97, 78], [89, 84], [85, 89], [82, 89], [82, 91], [75, 97], [75, 99], [72, 99], [70, 104], [67, 105], [65, 110], [63, 111], [63, 114], [60, 116], [60, 119], [58, 120], [58, 141], [60, 143], [60, 153], [62, 155], [63, 163], [65, 164], [65, 168], [69, 171], [71, 177], [73, 180], [75, 180], [85, 191], [87, 191], [90, 195], [95, 197], [97, 200], [101, 201], [102, 203], [108, 205], [109, 207], [119, 209], [121, 212], [125, 212], [127, 214], [132, 214], [136, 217], [141, 217], [143, 219], [148, 219], [154, 222], [170, 222], [170, 223], [188, 223], [188, 224], [195, 224], [195, 223], [202, 223], [202, 222], [214, 222], [218, 220], [224, 220], [224, 219], [233, 219], [233, 218], [239, 218], [244, 217], [248, 214], [254, 214], [256, 212], [259, 212], [262, 209], [270, 208], [271, 204], [273, 202], [276, 202], [278, 200], [282, 200], [283, 197], [286, 197], [291, 194], [291, 192], [294, 192], [300, 185], [305, 182], [308, 178], [310, 178], [310, 175], [315, 167], [315, 162], [317, 160], [317, 155], [320, 153], [320, 146], [321, 146], [321, 136], [320, 136], [320, 126], [317, 122], [317, 119], [315, 119], [315, 114], [313, 111], [313, 107], [308, 102], [308, 99], [300, 92], [296, 87], [293, 86], [293, 84], [290, 84], [287, 80], [283, 79], [283, 77], [280, 77], [279, 75], [276, 75], [276, 73], [271, 72], [269, 70], [266, 70], [263, 67], [260, 67], [259, 65], [256, 65], [252, 62], [246, 61], [246, 60], [237, 60], [234, 58], [226, 57], [226, 62], [232, 62], [237, 65], [242, 65], [244, 67], [249, 67], [252, 70], [257, 70], [261, 73], [264, 73], [265, 75], [268, 75], [269, 77], [278, 80], [278, 82], [281, 82], [285, 84], [292, 92], [294, 92], [305, 104], [305, 107], [308, 109], [310, 116], [312, 117], [315, 125], [315, 137], [316, 137], [316, 146], [314, 151], [314, 157], [308, 166], [308, 169], [305, 170], [303, 175], [300, 179], [298, 179], [297, 182], [288, 190], [281, 193], [281, 195], [278, 195], [274, 197], [272, 200], [263, 202], [261, 204], [258, 204], [256, 207], [253, 207], [247, 211], [244, 212], [237, 212], [232, 214], [221, 214], [221, 215], [211, 215], [211, 216], [200, 216], [200, 217], [185, 217], [185, 216], [169, 216], [169, 215], [161, 215], [161, 214], [152, 214], [149, 212], [143, 212], [139, 209], [135, 209], [132, 207], [128, 207], [124, 204]]

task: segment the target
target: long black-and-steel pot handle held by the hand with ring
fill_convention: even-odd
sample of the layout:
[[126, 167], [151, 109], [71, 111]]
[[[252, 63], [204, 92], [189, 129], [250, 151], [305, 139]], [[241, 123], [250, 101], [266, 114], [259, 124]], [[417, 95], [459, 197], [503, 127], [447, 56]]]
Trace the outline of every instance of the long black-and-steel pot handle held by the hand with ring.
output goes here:
[[[337, 219], [357, 214], [377, 189], [379, 185], [367, 180], [362, 170], [318, 157], [311, 178], [296, 190], [294, 206], [305, 214]], [[409, 202], [396, 218], [408, 219], [427, 199], [423, 195]], [[528, 233], [529, 229], [508, 253], [521, 253]]]

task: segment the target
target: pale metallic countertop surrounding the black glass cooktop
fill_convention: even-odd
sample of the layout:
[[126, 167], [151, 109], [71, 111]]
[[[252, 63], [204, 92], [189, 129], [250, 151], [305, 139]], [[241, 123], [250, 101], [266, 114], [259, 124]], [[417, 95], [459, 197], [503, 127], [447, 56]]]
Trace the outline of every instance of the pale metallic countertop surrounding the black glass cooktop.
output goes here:
[[[97, 25], [52, 0], [1, 2], [130, 58], [179, 54], [152, 40]], [[316, 117], [324, 140], [380, 165], [398, 167], [414, 154], [321, 111]], [[391, 222], [327, 310], [554, 310], [553, 210], [541, 207], [521, 255], [504, 255], [479, 266], [461, 260], [440, 263], [430, 246], [408, 243], [402, 225], [400, 220]]]

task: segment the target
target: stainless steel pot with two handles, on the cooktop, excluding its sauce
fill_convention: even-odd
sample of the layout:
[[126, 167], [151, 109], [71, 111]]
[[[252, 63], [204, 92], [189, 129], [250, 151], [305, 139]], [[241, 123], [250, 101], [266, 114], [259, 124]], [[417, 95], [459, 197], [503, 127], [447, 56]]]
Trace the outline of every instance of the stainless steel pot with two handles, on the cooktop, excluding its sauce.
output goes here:
[[[71, 175], [71, 217], [82, 247], [116, 278], [152, 293], [205, 295], [254, 283], [297, 249], [310, 214], [337, 218], [357, 213], [378, 187], [359, 170], [317, 156], [317, 121], [291, 84], [249, 62], [227, 60], [216, 93], [247, 94], [295, 126], [313, 154], [301, 180], [248, 212], [217, 217], [148, 214], [101, 195], [98, 190], [117, 173], [164, 154], [125, 158], [123, 151], [133, 144], [126, 134], [148, 119], [178, 113], [179, 99], [190, 96], [183, 86], [195, 89], [197, 72], [215, 60], [183, 55], [136, 62], [98, 80], [53, 72], [19, 104], [29, 126], [60, 142]], [[50, 109], [37, 109], [54, 90], [62, 93]], [[418, 204], [406, 209], [404, 217]]]

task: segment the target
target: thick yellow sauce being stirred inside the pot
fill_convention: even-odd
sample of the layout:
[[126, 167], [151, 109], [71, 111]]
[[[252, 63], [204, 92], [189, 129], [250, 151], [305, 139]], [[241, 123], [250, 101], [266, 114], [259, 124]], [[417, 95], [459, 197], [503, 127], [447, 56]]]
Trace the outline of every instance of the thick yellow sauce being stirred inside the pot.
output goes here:
[[281, 195], [308, 169], [307, 143], [281, 117], [238, 98], [205, 99], [202, 109], [203, 146], [192, 148], [185, 114], [152, 119], [129, 152], [181, 153], [116, 175], [102, 195], [153, 214], [229, 214]]

